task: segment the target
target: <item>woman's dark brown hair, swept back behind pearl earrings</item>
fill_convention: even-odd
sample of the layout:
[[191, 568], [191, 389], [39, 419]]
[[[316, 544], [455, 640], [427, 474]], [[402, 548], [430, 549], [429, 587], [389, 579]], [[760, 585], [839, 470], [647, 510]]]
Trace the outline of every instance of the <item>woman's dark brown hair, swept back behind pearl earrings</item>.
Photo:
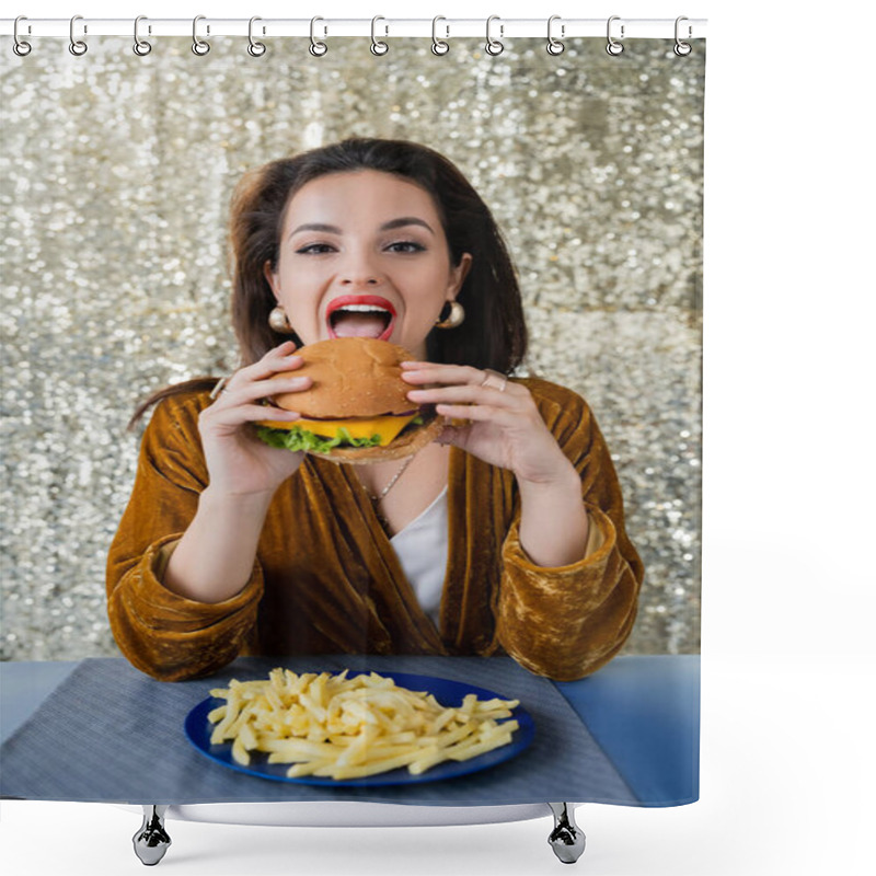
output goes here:
[[[277, 159], [250, 171], [238, 184], [229, 223], [231, 316], [243, 365], [257, 361], [290, 337], [268, 325], [268, 314], [277, 302], [264, 274], [265, 264], [276, 269], [287, 205], [302, 186], [320, 176], [364, 170], [401, 176], [428, 192], [453, 265], [459, 265], [463, 253], [472, 255], [457, 297], [465, 308], [465, 320], [456, 328], [429, 334], [429, 360], [510, 373], [526, 355], [527, 327], [514, 265], [489, 208], [439, 152], [407, 140], [374, 138], [351, 138]], [[160, 390], [138, 407], [131, 423], [160, 399], [215, 384], [216, 378], [197, 378]]]

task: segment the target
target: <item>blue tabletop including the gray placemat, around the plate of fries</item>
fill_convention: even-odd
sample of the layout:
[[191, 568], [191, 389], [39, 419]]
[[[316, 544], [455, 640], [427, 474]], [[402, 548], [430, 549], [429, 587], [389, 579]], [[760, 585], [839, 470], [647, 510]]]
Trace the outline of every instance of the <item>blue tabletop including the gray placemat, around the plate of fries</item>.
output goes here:
[[[334, 659], [343, 661], [344, 658]], [[404, 666], [399, 665], [400, 659], [406, 661]], [[268, 662], [277, 661], [265, 662], [267, 668]], [[290, 665], [290, 661], [285, 662]], [[177, 718], [203, 699], [210, 687], [233, 675], [233, 668], [209, 680], [163, 684], [131, 669], [124, 660], [5, 664], [0, 667], [0, 738], [5, 742], [0, 792], [4, 796], [138, 803], [341, 797], [459, 805], [543, 800], [556, 796], [557, 799], [644, 806], [691, 803], [699, 795], [699, 658], [695, 656], [621, 657], [590, 678], [556, 684], [523, 672], [510, 660], [415, 657], [374, 658], [369, 662], [378, 671], [393, 665], [397, 671], [458, 678], [493, 690], [508, 683], [515, 689], [527, 685], [528, 706], [541, 729], [540, 745], [537, 748], [533, 742], [529, 752], [476, 777], [430, 783], [431, 786], [424, 784], [413, 789], [410, 786], [349, 788], [338, 789], [338, 791], [330, 793], [312, 786], [257, 780], [256, 785], [261, 787], [252, 791], [253, 780], [249, 776], [238, 776], [203, 760], [182, 738], [177, 726]], [[339, 666], [339, 662], [337, 667], [326, 664], [325, 668]], [[255, 667], [261, 672], [263, 667], [257, 662]], [[563, 700], [552, 696], [556, 691], [572, 706], [566, 710], [567, 714]], [[511, 695], [510, 690], [502, 692]], [[67, 726], [71, 721], [76, 723], [82, 710], [100, 710], [101, 702], [104, 703], [103, 714], [96, 718], [96, 724], [84, 721], [80, 729], [96, 727], [97, 737], [108, 742], [87, 746], [88, 756], [81, 750], [77, 761], [80, 777], [72, 785], [65, 784], [55, 776], [65, 761], [69, 764], [70, 759], [77, 757], [76, 751], [70, 750], [70, 733], [65, 729], [65, 722]], [[135, 707], [134, 704], [139, 705]], [[142, 727], [145, 715], [148, 721], [150, 713], [165, 714], [169, 708], [175, 716], [172, 722], [160, 721], [145, 737], [138, 738], [137, 728]], [[119, 716], [135, 713], [139, 718], [119, 731]], [[46, 719], [53, 715], [60, 721]], [[163, 772], [152, 771], [158, 784], [150, 785], [147, 781], [152, 757], [142, 748], [147, 742], [155, 746], [155, 751], [165, 752], [160, 761]], [[131, 757], [131, 752], [140, 756], [139, 759]], [[545, 759], [548, 752], [562, 754]], [[93, 763], [89, 763], [88, 758], [93, 758]], [[101, 768], [101, 762], [115, 765]], [[126, 781], [114, 783], [114, 770], [116, 775], [119, 770], [126, 770], [123, 772]], [[92, 774], [101, 781], [95, 781], [91, 792], [83, 794], [79, 784], [81, 775], [90, 776], [90, 782]], [[209, 781], [205, 781], [204, 775]], [[170, 782], [171, 795], [160, 794], [160, 788], [168, 788]], [[113, 793], [114, 787], [116, 793]], [[138, 792], [149, 792], [146, 795], [149, 799]]]

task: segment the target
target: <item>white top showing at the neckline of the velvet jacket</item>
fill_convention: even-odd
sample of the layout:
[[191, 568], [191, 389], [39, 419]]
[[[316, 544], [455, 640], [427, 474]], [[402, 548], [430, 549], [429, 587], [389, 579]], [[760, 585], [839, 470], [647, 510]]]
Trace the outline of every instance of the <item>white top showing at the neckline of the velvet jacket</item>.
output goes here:
[[391, 539], [420, 608], [438, 625], [447, 574], [447, 487], [435, 502]]

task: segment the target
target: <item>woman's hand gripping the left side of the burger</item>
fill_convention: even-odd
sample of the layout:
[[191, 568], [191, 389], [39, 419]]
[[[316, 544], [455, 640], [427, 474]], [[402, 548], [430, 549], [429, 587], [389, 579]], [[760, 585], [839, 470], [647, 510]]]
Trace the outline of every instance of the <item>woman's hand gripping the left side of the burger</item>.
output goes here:
[[287, 422], [298, 418], [298, 414], [276, 407], [268, 408], [267, 415], [265, 406], [260, 404], [270, 395], [310, 387], [309, 377], [295, 374], [302, 365], [295, 349], [295, 344], [287, 341], [257, 362], [241, 368], [216, 401], [201, 411], [198, 428], [212, 494], [273, 495], [301, 464], [303, 453], [269, 447], [258, 439], [252, 425], [266, 418]]

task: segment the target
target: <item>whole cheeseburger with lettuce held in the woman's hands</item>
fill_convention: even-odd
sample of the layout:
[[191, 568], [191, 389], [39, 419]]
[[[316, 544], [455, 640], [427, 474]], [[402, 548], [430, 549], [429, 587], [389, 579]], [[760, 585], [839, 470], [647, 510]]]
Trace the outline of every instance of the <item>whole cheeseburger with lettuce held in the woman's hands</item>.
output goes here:
[[[416, 453], [441, 430], [434, 407], [407, 399], [404, 347], [370, 337], [336, 337], [297, 350], [310, 377], [301, 392], [278, 393], [269, 405], [296, 411], [292, 422], [260, 420], [258, 437], [272, 447], [303, 450], [333, 462], [369, 463]], [[288, 374], [277, 374], [287, 377]]]

